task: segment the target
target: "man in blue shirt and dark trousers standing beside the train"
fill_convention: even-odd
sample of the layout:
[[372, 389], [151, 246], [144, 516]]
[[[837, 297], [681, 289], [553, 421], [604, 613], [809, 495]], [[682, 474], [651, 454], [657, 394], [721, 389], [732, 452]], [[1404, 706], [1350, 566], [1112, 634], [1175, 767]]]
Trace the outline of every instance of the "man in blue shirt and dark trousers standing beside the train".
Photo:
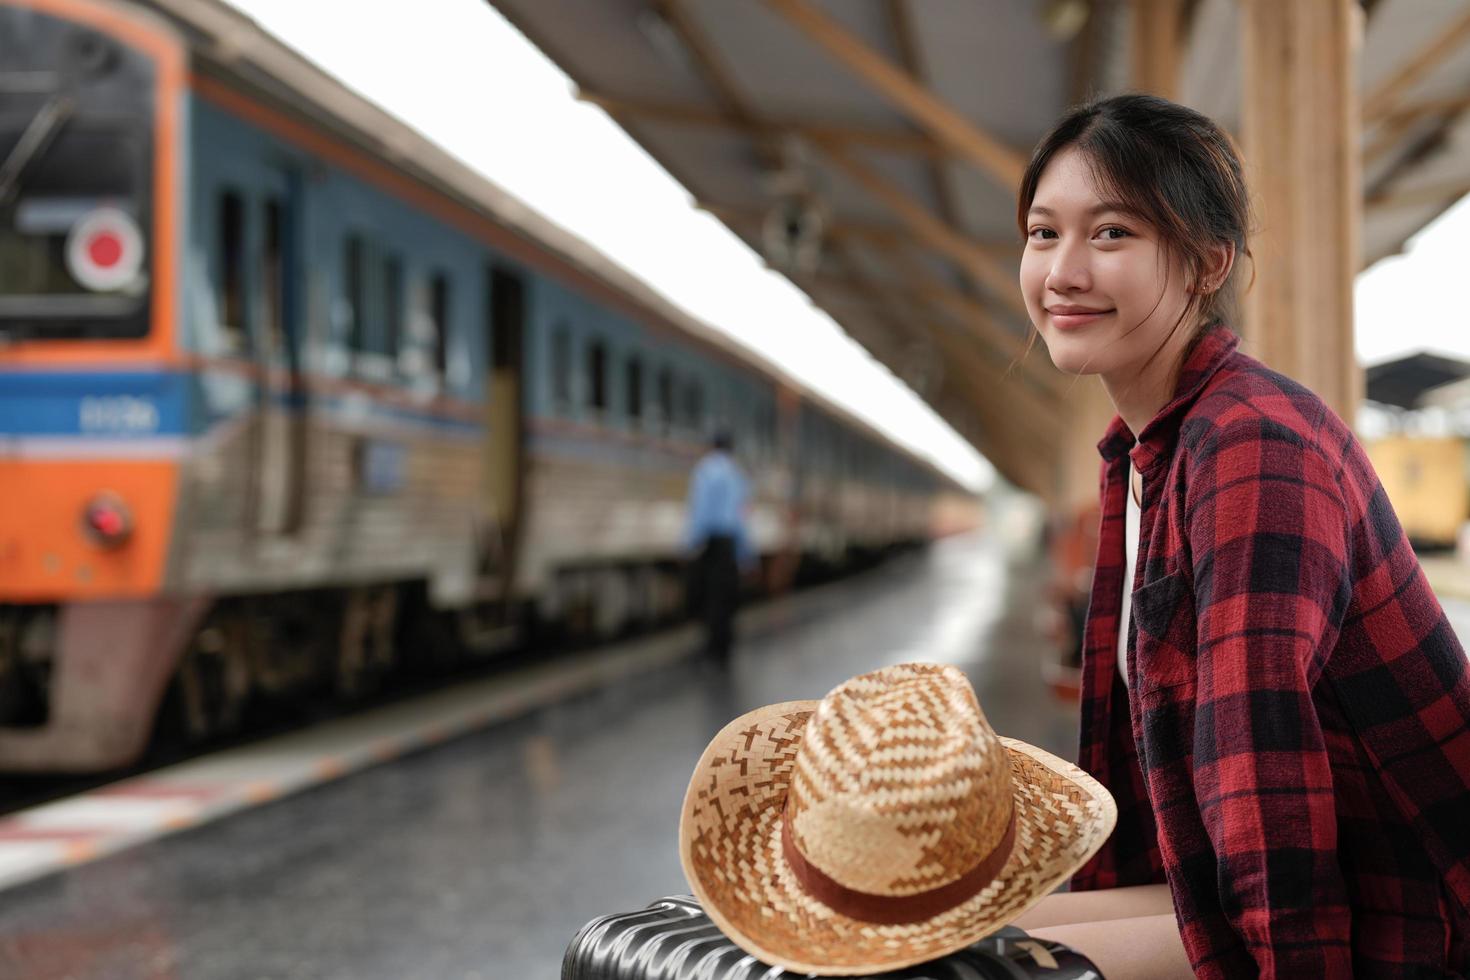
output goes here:
[[750, 482], [731, 455], [734, 448], [734, 436], [720, 430], [695, 464], [684, 533], [685, 554], [694, 555], [689, 610], [704, 623], [709, 658], [722, 669], [729, 666], [735, 642], [741, 572], [756, 566], [756, 548], [745, 527]]

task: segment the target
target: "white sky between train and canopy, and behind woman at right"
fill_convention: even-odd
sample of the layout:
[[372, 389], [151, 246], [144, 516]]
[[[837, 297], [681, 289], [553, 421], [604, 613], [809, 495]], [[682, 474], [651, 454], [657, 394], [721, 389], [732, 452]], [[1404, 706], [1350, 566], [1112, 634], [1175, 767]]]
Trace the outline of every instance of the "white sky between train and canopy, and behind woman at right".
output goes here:
[[[994, 469], [784, 276], [767, 270], [485, 0], [231, 0], [695, 317], [732, 334], [963, 483]], [[406, 15], [406, 10], [412, 13]], [[1470, 198], [1467, 198], [1470, 200]], [[1357, 281], [1357, 351], [1470, 359], [1463, 317], [1430, 309], [1464, 276], [1470, 204]], [[1041, 351], [1044, 354], [1044, 351]]]

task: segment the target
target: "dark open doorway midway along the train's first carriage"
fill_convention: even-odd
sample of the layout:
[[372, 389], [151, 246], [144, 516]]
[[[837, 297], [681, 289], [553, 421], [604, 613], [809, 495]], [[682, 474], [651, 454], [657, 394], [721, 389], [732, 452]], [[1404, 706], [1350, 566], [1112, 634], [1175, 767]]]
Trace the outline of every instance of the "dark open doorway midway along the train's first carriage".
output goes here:
[[[522, 508], [522, 350], [526, 295], [520, 273], [504, 266], [485, 270], [490, 331], [490, 398], [487, 400], [487, 488], [500, 532], [503, 585], [509, 588], [514, 567]], [[506, 595], [509, 598], [509, 595]]]

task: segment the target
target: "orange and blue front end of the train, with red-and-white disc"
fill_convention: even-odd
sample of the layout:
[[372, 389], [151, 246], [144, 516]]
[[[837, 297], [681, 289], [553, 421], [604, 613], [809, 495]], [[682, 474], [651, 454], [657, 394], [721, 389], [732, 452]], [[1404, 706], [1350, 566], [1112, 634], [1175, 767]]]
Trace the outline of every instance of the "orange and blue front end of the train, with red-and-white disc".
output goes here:
[[182, 53], [78, 4], [0, 6], [0, 767], [96, 768], [201, 608], [162, 594]]

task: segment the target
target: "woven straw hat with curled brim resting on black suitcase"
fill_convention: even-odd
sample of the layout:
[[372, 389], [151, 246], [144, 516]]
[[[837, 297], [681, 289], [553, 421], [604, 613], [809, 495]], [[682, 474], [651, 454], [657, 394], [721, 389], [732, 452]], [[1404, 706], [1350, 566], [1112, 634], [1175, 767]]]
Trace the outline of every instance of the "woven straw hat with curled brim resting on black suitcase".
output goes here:
[[[842, 696], [833, 692], [822, 702], [792, 701], [753, 711], [726, 726], [706, 749], [685, 798], [681, 860], [710, 918], [764, 962], [813, 974], [858, 976], [942, 956], [1035, 905], [1111, 833], [1117, 811], [1105, 789], [1070, 763], [991, 733], [969, 683], [963, 685], [969, 705], [956, 704], [956, 695], [947, 691], [953, 677], [941, 676], [935, 683], [938, 670], [942, 669], [920, 664], [889, 667], [839, 689], [866, 705], [831, 707]], [[886, 671], [897, 673], [882, 676]], [[904, 693], [910, 682], [931, 693]], [[870, 688], [864, 686], [869, 683]], [[901, 704], [908, 708], [895, 707]], [[833, 714], [828, 717], [823, 711]], [[916, 717], [900, 718], [900, 711]], [[878, 718], [901, 720], [894, 727], [913, 729], [914, 736], [886, 741], [875, 739], [872, 732], [864, 736], [861, 724]], [[958, 738], [967, 726], [975, 726], [970, 730], [978, 732], [976, 741], [966, 751], [953, 751], [945, 738]], [[923, 736], [917, 735], [920, 730]], [[823, 735], [813, 738], [817, 733]], [[994, 751], [986, 745], [994, 745]], [[786, 861], [784, 814], [789, 801], [797, 811], [791, 814], [792, 826], [813, 830], [803, 814], [851, 793], [851, 780], [861, 771], [853, 760], [861, 746], [869, 758], [881, 760], [866, 783], [878, 802], [867, 814], [848, 808], [845, 817], [858, 826], [872, 818], [873, 826], [897, 830], [894, 840], [907, 842], [907, 849], [885, 867], [888, 877], [848, 874], [842, 884], [863, 884], [860, 890], [866, 892], [881, 880], [888, 893], [903, 895], [961, 873], [960, 852], [944, 846], [945, 840], [964, 837], [944, 826], [948, 814], [953, 811], [954, 821], [980, 821], [970, 835], [975, 848], [985, 848], [998, 836], [986, 820], [1008, 817], [994, 798], [986, 804], [976, 788], [1008, 792], [1014, 808], [1014, 843], [995, 879], [948, 911], [907, 924], [861, 921], [813, 898]], [[916, 746], [917, 760], [908, 760]], [[925, 760], [932, 765], [916, 764]], [[904, 788], [894, 789], [894, 783]], [[797, 835], [808, 861], [822, 858], [823, 871], [844, 873], [839, 845], [828, 845], [825, 851], [825, 845], [801, 830]]]

